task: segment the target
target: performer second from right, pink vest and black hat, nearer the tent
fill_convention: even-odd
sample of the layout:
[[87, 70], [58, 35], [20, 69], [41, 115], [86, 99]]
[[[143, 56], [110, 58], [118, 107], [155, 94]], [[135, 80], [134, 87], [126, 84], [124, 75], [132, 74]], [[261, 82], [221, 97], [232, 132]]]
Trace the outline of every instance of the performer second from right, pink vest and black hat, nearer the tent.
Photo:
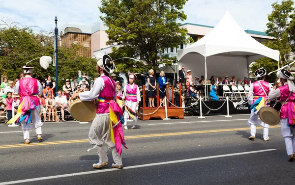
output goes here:
[[260, 123], [260, 125], [263, 127], [263, 140], [268, 141], [268, 128], [269, 125], [262, 122], [261, 120], [258, 120], [257, 115], [257, 104], [261, 103], [260, 105], [265, 106], [267, 101], [267, 95], [272, 88], [272, 85], [265, 81], [266, 76], [266, 70], [265, 69], [258, 69], [254, 73], [255, 77], [257, 77], [257, 81], [252, 83], [250, 85], [249, 93], [248, 93], [248, 103], [249, 105], [252, 105], [250, 107], [251, 109], [251, 115], [250, 119], [248, 120], [248, 125], [250, 126], [250, 133], [251, 136], [249, 137], [249, 140], [253, 140], [255, 138], [256, 134], [256, 125]]

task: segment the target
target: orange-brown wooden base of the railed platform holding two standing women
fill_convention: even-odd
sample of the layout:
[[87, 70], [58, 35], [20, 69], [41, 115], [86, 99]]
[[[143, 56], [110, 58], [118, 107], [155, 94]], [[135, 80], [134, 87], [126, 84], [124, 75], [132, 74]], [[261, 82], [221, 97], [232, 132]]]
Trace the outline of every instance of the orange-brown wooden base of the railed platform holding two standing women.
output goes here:
[[[155, 113], [150, 114], [154, 112], [157, 108], [140, 108], [140, 119], [141, 120], [149, 120], [150, 118], [166, 118], [165, 115], [165, 108], [159, 108]], [[143, 115], [143, 114], [149, 114], [149, 115]], [[167, 116], [168, 117], [178, 117], [179, 119], [183, 119], [183, 108], [178, 107], [167, 107]]]

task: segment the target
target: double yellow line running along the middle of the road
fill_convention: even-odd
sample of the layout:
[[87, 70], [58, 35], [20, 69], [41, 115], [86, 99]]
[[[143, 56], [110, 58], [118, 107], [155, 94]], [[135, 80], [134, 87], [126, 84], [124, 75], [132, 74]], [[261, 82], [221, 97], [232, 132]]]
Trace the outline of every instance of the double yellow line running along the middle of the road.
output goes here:
[[[270, 126], [269, 128], [280, 128], [280, 125]], [[263, 129], [263, 127], [258, 127], [256, 129]], [[144, 138], [144, 137], [162, 137], [162, 136], [172, 136], [172, 135], [186, 135], [186, 134], [196, 134], [196, 133], [212, 133], [212, 132], [230, 132], [230, 131], [243, 131], [249, 130], [247, 128], [236, 128], [236, 129], [219, 129], [219, 130], [207, 130], [207, 131], [191, 131], [191, 132], [172, 132], [172, 133], [157, 133], [157, 134], [146, 134], [146, 135], [133, 135], [125, 136], [125, 139], [134, 139], [134, 138]], [[88, 139], [80, 140], [67, 140], [67, 141], [53, 141], [53, 142], [39, 142], [39, 143], [30, 143], [30, 144], [16, 144], [16, 145], [0, 145], [0, 149], [4, 148], [17, 148], [17, 147], [30, 147], [30, 146], [43, 146], [43, 145], [57, 145], [57, 144], [69, 144], [69, 143], [81, 143], [89, 142]]]

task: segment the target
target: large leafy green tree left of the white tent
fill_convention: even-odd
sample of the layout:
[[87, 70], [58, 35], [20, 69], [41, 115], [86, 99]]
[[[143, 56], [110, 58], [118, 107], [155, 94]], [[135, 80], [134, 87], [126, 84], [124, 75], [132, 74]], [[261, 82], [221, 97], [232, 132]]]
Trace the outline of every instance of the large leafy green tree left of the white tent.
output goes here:
[[[186, 19], [182, 8], [187, 0], [102, 0], [99, 10], [106, 30], [112, 56], [134, 57], [142, 62], [122, 60], [117, 62], [121, 71], [147, 71], [159, 64], [171, 64], [173, 59], [162, 57], [163, 50], [189, 43], [187, 29], [177, 21]], [[115, 58], [115, 57], [114, 57]]]

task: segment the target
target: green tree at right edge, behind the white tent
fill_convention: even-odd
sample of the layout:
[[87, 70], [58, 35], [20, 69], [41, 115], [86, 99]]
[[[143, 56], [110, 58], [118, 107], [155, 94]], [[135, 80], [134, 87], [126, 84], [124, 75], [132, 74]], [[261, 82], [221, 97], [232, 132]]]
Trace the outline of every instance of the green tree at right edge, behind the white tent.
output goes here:
[[[266, 47], [273, 50], [279, 50], [282, 60], [284, 55], [294, 50], [292, 40], [295, 38], [295, 14], [292, 0], [283, 0], [281, 4], [275, 2], [271, 4], [272, 12], [268, 14], [268, 23], [266, 24], [266, 33], [274, 37], [274, 40], [263, 43]], [[283, 63], [286, 65], [286, 63]], [[270, 58], [261, 58], [251, 67], [252, 73], [264, 67], [267, 72], [274, 71], [278, 68], [278, 63]]]

